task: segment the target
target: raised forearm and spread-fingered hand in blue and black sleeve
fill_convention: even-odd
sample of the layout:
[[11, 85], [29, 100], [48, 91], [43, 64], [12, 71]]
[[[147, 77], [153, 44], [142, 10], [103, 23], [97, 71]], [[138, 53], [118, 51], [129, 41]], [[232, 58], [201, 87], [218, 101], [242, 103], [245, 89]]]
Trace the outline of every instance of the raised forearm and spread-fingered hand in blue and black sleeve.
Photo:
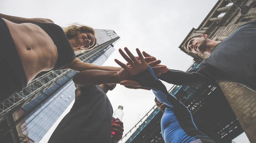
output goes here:
[[165, 103], [167, 106], [170, 107], [175, 106], [178, 103], [177, 98], [172, 94], [169, 94], [166, 87], [157, 78], [152, 68], [143, 58], [143, 55], [140, 53], [140, 50], [136, 49], [137, 54], [141, 59], [140, 61], [136, 57], [134, 57], [134, 55], [131, 54], [131, 52], [127, 48], [125, 48], [125, 51], [129, 57], [121, 49], [119, 49], [120, 54], [129, 63], [130, 66], [125, 65], [119, 60], [115, 61], [123, 69], [129, 72], [135, 81], [123, 80], [120, 82], [120, 84], [125, 86], [143, 86], [144, 88], [152, 89], [158, 101]]

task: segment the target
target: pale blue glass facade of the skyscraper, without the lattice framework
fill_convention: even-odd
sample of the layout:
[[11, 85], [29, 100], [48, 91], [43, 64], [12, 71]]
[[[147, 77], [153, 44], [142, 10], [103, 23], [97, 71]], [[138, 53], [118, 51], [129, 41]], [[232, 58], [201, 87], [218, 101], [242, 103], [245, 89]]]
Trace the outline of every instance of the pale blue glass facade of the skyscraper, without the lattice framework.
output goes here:
[[[105, 48], [90, 56], [86, 63], [93, 63], [101, 66], [115, 50], [113, 43], [118, 35], [113, 30], [95, 29], [97, 45], [105, 45]], [[119, 39], [119, 37], [117, 38]], [[111, 42], [113, 41], [113, 42]], [[90, 51], [89, 51], [90, 52]], [[35, 97], [23, 106], [18, 112], [18, 116], [26, 114], [26, 117], [16, 126], [18, 133], [23, 134], [20, 141], [26, 143], [39, 143], [56, 120], [67, 109], [75, 99], [75, 89], [72, 77], [76, 72], [71, 72], [46, 91]], [[40, 104], [38, 106], [38, 104]], [[36, 109], [33, 109], [35, 108]]]

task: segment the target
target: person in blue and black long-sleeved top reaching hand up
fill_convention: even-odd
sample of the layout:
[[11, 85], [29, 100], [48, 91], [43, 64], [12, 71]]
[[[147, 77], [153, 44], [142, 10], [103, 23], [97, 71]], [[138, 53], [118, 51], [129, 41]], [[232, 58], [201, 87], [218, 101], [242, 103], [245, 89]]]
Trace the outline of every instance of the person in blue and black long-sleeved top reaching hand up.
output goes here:
[[122, 57], [128, 62], [126, 65], [119, 60], [119, 64], [131, 74], [131, 80], [122, 80], [121, 85], [137, 88], [152, 89], [156, 96], [157, 107], [164, 113], [161, 120], [162, 136], [165, 143], [215, 143], [211, 138], [200, 132], [193, 121], [192, 114], [175, 96], [169, 94], [163, 83], [154, 74], [151, 66], [145, 61], [139, 49], [136, 49], [141, 60], [125, 48], [126, 55], [119, 49]]

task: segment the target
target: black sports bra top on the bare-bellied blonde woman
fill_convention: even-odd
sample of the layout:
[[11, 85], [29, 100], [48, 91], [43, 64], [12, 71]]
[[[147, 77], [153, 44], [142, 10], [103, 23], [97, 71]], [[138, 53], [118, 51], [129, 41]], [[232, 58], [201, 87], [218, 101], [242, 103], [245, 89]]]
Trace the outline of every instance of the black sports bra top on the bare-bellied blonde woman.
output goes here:
[[57, 47], [58, 59], [52, 70], [62, 69], [75, 59], [75, 52], [63, 29], [54, 23], [33, 23], [43, 29]]

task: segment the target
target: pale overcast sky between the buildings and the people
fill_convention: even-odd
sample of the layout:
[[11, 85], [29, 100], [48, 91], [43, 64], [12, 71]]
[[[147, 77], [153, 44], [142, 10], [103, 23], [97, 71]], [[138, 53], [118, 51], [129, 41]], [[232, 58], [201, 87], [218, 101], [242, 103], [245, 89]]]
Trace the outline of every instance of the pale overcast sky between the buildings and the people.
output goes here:
[[[135, 48], [148, 52], [169, 69], [186, 71], [193, 60], [178, 46], [192, 28], [201, 24], [217, 1], [0, 0], [0, 13], [48, 18], [63, 27], [78, 22], [94, 29], [114, 30], [121, 38], [114, 45], [116, 50], [104, 66], [118, 66], [114, 62], [115, 58], [125, 62], [118, 49], [128, 47], [134, 54]], [[167, 89], [172, 87], [167, 83], [165, 85]], [[118, 85], [107, 95], [114, 110], [119, 105], [124, 106], [124, 134], [154, 106], [154, 94], [151, 91], [126, 89]], [[46, 140], [50, 135], [51, 132], [47, 133]]]

